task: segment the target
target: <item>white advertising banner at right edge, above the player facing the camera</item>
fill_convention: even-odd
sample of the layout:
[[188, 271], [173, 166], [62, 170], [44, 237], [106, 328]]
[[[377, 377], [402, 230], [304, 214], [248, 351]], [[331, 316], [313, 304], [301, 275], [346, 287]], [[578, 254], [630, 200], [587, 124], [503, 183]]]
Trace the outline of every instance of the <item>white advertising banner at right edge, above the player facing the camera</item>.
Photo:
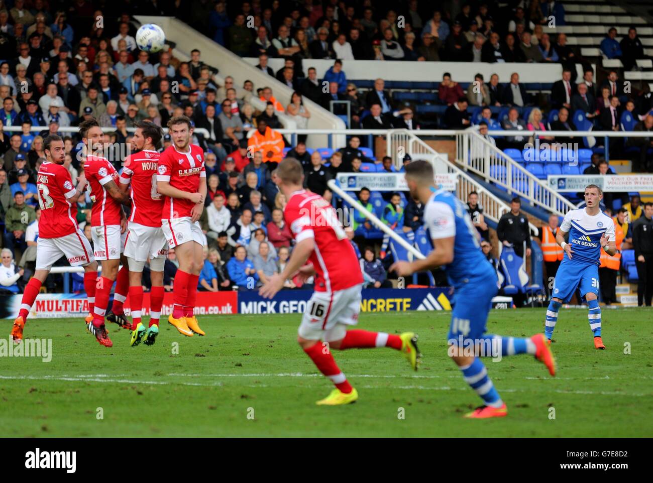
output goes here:
[[564, 193], [582, 193], [587, 185], [597, 185], [602, 191], [653, 191], [653, 174], [549, 175], [550, 189]]

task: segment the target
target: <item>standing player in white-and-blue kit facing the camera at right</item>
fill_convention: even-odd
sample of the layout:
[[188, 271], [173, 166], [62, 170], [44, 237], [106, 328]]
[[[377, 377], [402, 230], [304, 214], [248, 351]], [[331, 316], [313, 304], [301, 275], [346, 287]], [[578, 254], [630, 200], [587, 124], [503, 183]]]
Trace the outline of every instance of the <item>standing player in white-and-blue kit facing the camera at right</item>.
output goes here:
[[[588, 185], [585, 188], [585, 208], [567, 211], [556, 234], [556, 242], [565, 254], [553, 282], [553, 296], [547, 309], [544, 330], [549, 344], [558, 321], [560, 306], [569, 302], [576, 288], [580, 288], [581, 296], [587, 300], [589, 307], [588, 320], [594, 334], [594, 347], [605, 349], [601, 339], [601, 309], [597, 300], [601, 248], [611, 257], [618, 253], [618, 249], [614, 223], [599, 209], [602, 198], [603, 192], [599, 187]], [[567, 234], [569, 243], [565, 242]]]

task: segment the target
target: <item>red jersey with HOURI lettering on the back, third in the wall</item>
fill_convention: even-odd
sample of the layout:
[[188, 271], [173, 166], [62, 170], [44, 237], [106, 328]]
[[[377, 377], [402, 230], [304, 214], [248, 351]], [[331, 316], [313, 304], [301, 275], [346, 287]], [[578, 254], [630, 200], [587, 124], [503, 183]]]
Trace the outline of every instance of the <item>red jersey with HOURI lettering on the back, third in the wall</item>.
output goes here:
[[129, 221], [144, 226], [161, 227], [163, 196], [157, 193], [157, 151], [138, 151], [125, 159], [120, 183], [131, 181], [131, 216]]

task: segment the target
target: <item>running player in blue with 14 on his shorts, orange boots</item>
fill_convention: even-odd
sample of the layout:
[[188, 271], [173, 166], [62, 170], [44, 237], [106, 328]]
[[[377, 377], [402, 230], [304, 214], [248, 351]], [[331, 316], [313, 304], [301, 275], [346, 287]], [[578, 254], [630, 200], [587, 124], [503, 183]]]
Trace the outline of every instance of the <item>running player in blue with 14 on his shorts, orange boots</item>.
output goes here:
[[[466, 207], [449, 191], [436, 188], [433, 166], [428, 161], [408, 164], [406, 181], [413, 199], [424, 204], [424, 227], [430, 232], [434, 250], [424, 260], [395, 262], [390, 271], [407, 276], [445, 266], [449, 283], [454, 287], [451, 328], [447, 337], [449, 356], [485, 403], [466, 417], [507, 416], [507, 406], [477, 355], [498, 356], [499, 351], [502, 356], [534, 354], [554, 375], [554, 359], [549, 345], [542, 334], [530, 339], [485, 335], [497, 277], [479, 247], [477, 231]], [[492, 349], [487, 351], [486, 348], [490, 347]]]

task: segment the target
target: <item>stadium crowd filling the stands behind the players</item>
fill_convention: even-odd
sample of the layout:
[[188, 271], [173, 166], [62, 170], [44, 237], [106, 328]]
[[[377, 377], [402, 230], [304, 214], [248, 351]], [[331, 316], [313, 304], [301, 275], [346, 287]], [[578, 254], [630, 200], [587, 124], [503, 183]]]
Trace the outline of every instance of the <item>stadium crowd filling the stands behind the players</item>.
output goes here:
[[[431, 3], [419, 0], [398, 5], [370, 0], [237, 4], [202, 0], [191, 4], [192, 8], [178, 0], [118, 1], [98, 10], [87, 0], [72, 5], [0, 1], [0, 217], [4, 223], [0, 290], [20, 291], [33, 269], [31, 247], [38, 237], [35, 221], [39, 218], [35, 172], [44, 159], [44, 136], [48, 132], [65, 136], [65, 166], [74, 179], [83, 170], [78, 157], [80, 140], [75, 133], [60, 129], [74, 127], [89, 116], [97, 117], [103, 127], [115, 128], [105, 134], [104, 144], [116, 168], [121, 167], [121, 153], [131, 139], [127, 128], [135, 121], [149, 119], [165, 126], [171, 116], [185, 114], [195, 127], [209, 132], [208, 136], [195, 134], [194, 142], [206, 153], [209, 196], [200, 223], [207, 243], [200, 289], [210, 291], [251, 290], [283, 268], [292, 237], [283, 223], [285, 200], [274, 183], [274, 169], [285, 155], [304, 164], [306, 187], [329, 200], [327, 181], [338, 172], [358, 172], [374, 163], [377, 170], [396, 171], [391, 159], [376, 161], [364, 149], [367, 140], [357, 136], [349, 137], [345, 148], [328, 155], [306, 148], [306, 136], [298, 136], [295, 146], [290, 146], [276, 131], [281, 126], [278, 113], [293, 117], [298, 127], [308, 127], [311, 113], [304, 98], [325, 108], [330, 101], [349, 101], [348, 120], [353, 128], [464, 129], [475, 125], [482, 135], [488, 128], [556, 129], [570, 131], [569, 140], [577, 130], [571, 115], [582, 110], [586, 119], [602, 129], [624, 129], [621, 119], [628, 112], [634, 119], [629, 129], [653, 130], [653, 116], [648, 115], [653, 97], [646, 84], [641, 91], [624, 93], [615, 70], [597, 85], [589, 64], [567, 45], [563, 33], [555, 39], [543, 33], [550, 16], [557, 25], [564, 25], [564, 7], [559, 1], [512, 1], [505, 7], [490, 0], [452, 3], [435, 10]], [[232, 52], [258, 57], [257, 68], [293, 89], [291, 102], [283, 106], [271, 87], [255, 86], [250, 80], [236, 85], [229, 72], [220, 72], [218, 78], [217, 69], [202, 61], [199, 50], [191, 52], [188, 62], [176, 59], [171, 50], [160, 54], [139, 51], [134, 39], [135, 14], [176, 16]], [[644, 56], [637, 31], [631, 29], [620, 42], [615, 36], [611, 29], [601, 49], [608, 57], [621, 59], [627, 69], [636, 69], [636, 59]], [[283, 57], [283, 68], [274, 72], [268, 65], [270, 57]], [[323, 79], [317, 78], [311, 59], [333, 60]], [[443, 115], [418, 119], [416, 106], [398, 99], [383, 79], [375, 80], [367, 92], [347, 79], [347, 63], [360, 59], [560, 63], [564, 69], [550, 96], [528, 93], [518, 72], [505, 84], [502, 81], [507, 80], [496, 74], [487, 82], [479, 74], [475, 78], [479, 89], [470, 85], [467, 91], [445, 73], [432, 101], [446, 106]], [[577, 63], [585, 67], [582, 79], [576, 79]], [[323, 81], [329, 84], [328, 93], [321, 89]], [[263, 112], [252, 106], [253, 97], [266, 103]], [[505, 109], [503, 117], [498, 116], [500, 108]], [[9, 126], [21, 131], [7, 131]], [[34, 126], [42, 131], [30, 131]], [[496, 144], [520, 149], [527, 141], [526, 136], [497, 138]], [[634, 153], [635, 170], [651, 170], [648, 149], [653, 141], [632, 138], [628, 143], [611, 145], [611, 156], [629, 149]], [[161, 149], [169, 145], [166, 136]], [[588, 170], [603, 172], [605, 166], [600, 161], [593, 159]], [[409, 157], [404, 162], [409, 163]], [[421, 226], [422, 206], [404, 193], [362, 189], [358, 197], [392, 228], [414, 234]], [[613, 207], [609, 204], [608, 208]], [[635, 212], [636, 208], [633, 206]], [[474, 210], [470, 206], [470, 213]], [[89, 213], [87, 197], [85, 203], [78, 204], [80, 225], [86, 225]], [[358, 214], [352, 225], [366, 283], [387, 287], [388, 240]], [[483, 228], [482, 221], [476, 225]], [[489, 242], [486, 226], [482, 231], [483, 240]], [[89, 230], [86, 232], [90, 240]], [[376, 257], [379, 242], [380, 259]], [[175, 270], [173, 252], [166, 266], [168, 289]], [[75, 276], [73, 289], [82, 290]], [[59, 277], [50, 276], [48, 290], [61, 288]], [[288, 288], [297, 285], [287, 281]]]

